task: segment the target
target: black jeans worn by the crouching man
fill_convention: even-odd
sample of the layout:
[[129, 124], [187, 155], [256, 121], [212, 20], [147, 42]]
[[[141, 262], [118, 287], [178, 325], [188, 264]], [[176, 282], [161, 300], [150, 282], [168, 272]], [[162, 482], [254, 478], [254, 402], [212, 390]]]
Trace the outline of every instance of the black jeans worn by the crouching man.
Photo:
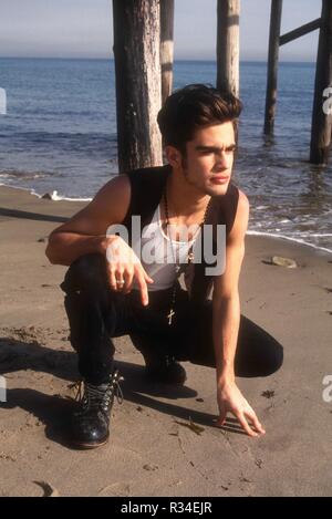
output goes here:
[[[144, 356], [172, 355], [215, 367], [211, 302], [194, 304], [177, 289], [175, 315], [168, 325], [172, 290], [149, 292], [143, 307], [137, 291], [128, 294], [110, 289], [105, 258], [86, 255], [69, 268], [61, 289], [70, 338], [79, 354], [79, 370], [93, 384], [106, 382], [113, 370], [112, 338], [128, 334]], [[260, 326], [241, 315], [235, 370], [237, 376], [267, 376], [282, 364], [282, 346]]]

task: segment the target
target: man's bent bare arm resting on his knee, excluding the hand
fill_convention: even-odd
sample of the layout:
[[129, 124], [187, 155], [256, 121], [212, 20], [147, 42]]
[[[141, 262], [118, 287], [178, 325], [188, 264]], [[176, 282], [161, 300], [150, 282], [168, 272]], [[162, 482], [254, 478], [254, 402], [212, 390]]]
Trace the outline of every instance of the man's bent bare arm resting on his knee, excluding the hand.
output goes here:
[[80, 256], [106, 253], [108, 226], [121, 224], [131, 200], [126, 175], [105, 184], [94, 199], [49, 237], [45, 255], [51, 263], [70, 266]]

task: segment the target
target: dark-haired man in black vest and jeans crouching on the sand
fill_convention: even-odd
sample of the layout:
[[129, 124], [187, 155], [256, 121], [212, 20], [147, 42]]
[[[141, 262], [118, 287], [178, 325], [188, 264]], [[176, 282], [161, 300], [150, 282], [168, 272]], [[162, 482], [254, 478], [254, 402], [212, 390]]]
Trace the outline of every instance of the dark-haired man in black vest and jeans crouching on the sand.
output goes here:
[[[71, 429], [77, 447], [107, 442], [120, 383], [112, 338], [124, 334], [143, 354], [151, 380], [183, 384], [178, 361], [215, 367], [217, 424], [230, 412], [249, 436], [264, 434], [235, 378], [269, 375], [282, 363], [282, 347], [240, 315], [249, 215], [246, 195], [231, 181], [240, 111], [239, 100], [211, 86], [175, 92], [158, 114], [168, 164], [116, 176], [50, 235], [49, 260], [70, 266], [61, 288], [84, 381]], [[132, 217], [141, 218], [138, 246]], [[120, 224], [128, 240], [115, 232]], [[205, 227], [212, 229], [210, 239]], [[216, 251], [222, 229], [226, 250], [217, 249], [225, 269], [216, 274], [201, 249]], [[154, 253], [147, 258], [144, 249]]]

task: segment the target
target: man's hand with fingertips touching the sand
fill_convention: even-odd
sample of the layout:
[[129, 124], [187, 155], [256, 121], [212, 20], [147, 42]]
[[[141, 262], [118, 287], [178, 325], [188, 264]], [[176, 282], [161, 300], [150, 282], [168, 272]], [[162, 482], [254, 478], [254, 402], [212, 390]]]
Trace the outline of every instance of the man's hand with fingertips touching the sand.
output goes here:
[[255, 437], [266, 434], [255, 411], [246, 401], [235, 382], [217, 384], [217, 401], [219, 407], [218, 426], [224, 425], [227, 412], [230, 412], [238, 418], [242, 428], [249, 436]]

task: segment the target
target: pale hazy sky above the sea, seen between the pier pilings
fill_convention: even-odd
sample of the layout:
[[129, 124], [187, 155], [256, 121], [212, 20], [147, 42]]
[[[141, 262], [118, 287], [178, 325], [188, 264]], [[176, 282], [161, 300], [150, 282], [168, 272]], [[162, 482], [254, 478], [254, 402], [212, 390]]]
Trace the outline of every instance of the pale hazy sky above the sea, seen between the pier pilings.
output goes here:
[[[215, 59], [217, 0], [175, 0], [175, 58]], [[320, 0], [283, 0], [282, 32], [320, 15]], [[241, 0], [240, 58], [266, 60], [270, 0]], [[281, 48], [283, 61], [315, 61], [318, 31]], [[110, 58], [112, 0], [1, 0], [0, 55]]]

